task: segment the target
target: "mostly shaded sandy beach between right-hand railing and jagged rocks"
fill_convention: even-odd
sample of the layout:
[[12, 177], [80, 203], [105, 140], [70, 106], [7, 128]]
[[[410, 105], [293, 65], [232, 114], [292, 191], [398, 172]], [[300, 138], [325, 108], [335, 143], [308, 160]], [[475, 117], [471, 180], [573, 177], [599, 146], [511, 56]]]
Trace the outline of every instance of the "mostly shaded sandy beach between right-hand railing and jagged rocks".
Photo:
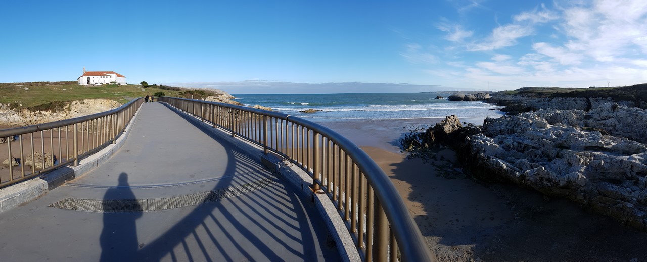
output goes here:
[[438, 261], [647, 261], [645, 232], [565, 199], [465, 178], [448, 149], [430, 163], [400, 153], [404, 133], [440, 120], [320, 124], [358, 144], [391, 177]]

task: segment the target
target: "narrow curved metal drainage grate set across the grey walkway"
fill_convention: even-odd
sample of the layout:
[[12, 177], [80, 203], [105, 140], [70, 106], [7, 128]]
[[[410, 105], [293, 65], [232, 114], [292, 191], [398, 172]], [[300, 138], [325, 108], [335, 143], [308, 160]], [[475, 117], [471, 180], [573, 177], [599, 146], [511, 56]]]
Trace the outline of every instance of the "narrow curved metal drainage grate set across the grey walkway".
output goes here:
[[67, 198], [49, 206], [65, 210], [78, 210], [87, 212], [149, 212], [182, 208], [184, 206], [197, 206], [199, 204], [220, 201], [230, 197], [237, 197], [252, 191], [261, 190], [277, 184], [275, 180], [265, 178], [239, 186], [232, 186], [223, 190], [205, 191], [177, 197], [164, 197], [161, 199], [124, 199], [124, 200], [96, 200]]

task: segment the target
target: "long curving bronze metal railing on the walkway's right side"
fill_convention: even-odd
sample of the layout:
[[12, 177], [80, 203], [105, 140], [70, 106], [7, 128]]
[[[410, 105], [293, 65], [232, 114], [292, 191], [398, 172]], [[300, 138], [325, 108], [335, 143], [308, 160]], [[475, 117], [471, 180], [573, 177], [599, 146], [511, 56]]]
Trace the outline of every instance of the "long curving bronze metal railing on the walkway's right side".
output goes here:
[[[388, 176], [362, 149], [327, 127], [283, 113], [162, 97], [164, 102], [289, 159], [338, 209], [365, 261], [430, 261], [420, 230]], [[401, 256], [400, 256], [401, 255]]]

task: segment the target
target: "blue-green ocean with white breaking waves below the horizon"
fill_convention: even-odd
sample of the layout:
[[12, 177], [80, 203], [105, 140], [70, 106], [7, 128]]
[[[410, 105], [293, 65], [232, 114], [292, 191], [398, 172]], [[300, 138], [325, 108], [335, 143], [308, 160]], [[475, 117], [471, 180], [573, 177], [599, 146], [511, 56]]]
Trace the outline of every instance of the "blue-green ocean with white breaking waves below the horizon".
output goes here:
[[[453, 102], [451, 93], [353, 93], [353, 94], [234, 94], [244, 105], [263, 105], [281, 113], [325, 120], [397, 120], [415, 118], [499, 117], [497, 105], [484, 102]], [[444, 99], [435, 99], [443, 96]], [[320, 110], [301, 113], [306, 109]]]

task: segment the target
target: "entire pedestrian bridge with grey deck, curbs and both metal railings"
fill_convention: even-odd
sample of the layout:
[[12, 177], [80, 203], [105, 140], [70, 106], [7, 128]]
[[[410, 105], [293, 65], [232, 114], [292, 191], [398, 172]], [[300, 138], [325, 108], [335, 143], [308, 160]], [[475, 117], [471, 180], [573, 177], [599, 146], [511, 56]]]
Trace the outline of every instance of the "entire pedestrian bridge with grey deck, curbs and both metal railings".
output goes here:
[[140, 98], [0, 138], [2, 261], [431, 259], [375, 163], [300, 118]]

